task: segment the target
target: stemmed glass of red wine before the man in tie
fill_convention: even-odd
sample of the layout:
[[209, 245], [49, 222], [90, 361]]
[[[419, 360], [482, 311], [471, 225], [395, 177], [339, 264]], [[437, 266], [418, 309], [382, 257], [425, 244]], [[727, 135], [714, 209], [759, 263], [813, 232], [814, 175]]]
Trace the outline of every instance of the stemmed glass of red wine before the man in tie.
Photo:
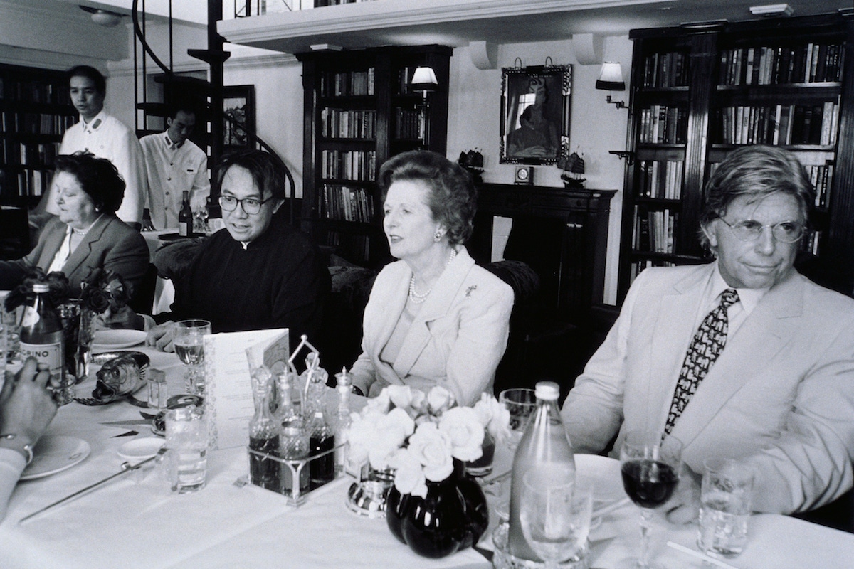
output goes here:
[[679, 484], [682, 444], [659, 431], [630, 431], [620, 448], [623, 488], [640, 506], [640, 555], [624, 560], [621, 567], [650, 569], [649, 534], [652, 510], [670, 500]]

